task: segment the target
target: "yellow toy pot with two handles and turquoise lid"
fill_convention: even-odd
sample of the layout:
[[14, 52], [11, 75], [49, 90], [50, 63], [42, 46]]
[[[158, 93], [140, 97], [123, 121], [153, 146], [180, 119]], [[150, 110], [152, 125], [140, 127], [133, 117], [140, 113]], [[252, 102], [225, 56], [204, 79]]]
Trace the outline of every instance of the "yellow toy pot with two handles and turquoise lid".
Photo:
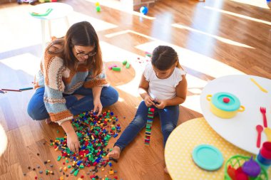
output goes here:
[[229, 92], [218, 92], [215, 95], [207, 95], [210, 101], [210, 110], [214, 115], [230, 119], [235, 117], [237, 112], [243, 112], [245, 107], [240, 105], [240, 100]]

